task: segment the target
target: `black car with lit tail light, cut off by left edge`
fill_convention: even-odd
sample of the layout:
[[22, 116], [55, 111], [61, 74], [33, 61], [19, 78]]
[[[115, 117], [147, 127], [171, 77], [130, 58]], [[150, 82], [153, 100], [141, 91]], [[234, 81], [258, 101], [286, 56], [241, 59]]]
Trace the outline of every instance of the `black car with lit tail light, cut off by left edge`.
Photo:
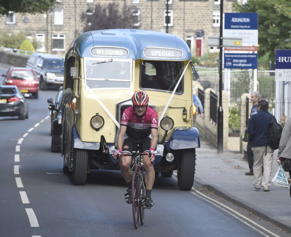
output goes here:
[[28, 102], [24, 95], [17, 86], [0, 86], [0, 116], [18, 116], [20, 120], [28, 118]]

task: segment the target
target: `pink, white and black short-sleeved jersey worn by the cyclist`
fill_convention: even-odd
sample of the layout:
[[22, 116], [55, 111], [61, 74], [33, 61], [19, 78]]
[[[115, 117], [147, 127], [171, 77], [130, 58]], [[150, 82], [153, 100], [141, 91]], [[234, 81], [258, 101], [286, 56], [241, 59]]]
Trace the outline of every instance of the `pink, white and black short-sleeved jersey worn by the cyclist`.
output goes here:
[[144, 139], [151, 134], [151, 128], [157, 129], [157, 111], [147, 107], [144, 115], [139, 117], [134, 112], [133, 106], [126, 108], [123, 112], [121, 126], [127, 126], [126, 134], [132, 139]]

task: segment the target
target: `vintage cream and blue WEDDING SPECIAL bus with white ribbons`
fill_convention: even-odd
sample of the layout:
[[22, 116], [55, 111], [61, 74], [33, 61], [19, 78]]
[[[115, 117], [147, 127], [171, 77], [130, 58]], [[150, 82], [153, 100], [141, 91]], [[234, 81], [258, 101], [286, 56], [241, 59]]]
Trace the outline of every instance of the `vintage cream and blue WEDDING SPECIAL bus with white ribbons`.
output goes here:
[[84, 185], [93, 169], [118, 169], [112, 154], [123, 110], [144, 90], [157, 110], [154, 170], [190, 190], [198, 130], [193, 124], [192, 73], [187, 44], [178, 36], [137, 29], [85, 32], [65, 58], [62, 111], [64, 172]]

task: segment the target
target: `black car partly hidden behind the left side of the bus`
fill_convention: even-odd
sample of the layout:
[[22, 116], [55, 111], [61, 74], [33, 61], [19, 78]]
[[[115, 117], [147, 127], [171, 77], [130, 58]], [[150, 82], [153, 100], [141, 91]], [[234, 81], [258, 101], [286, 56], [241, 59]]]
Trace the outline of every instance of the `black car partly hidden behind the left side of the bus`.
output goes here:
[[56, 95], [55, 102], [52, 98], [47, 100], [49, 104], [49, 110], [51, 110], [51, 136], [52, 152], [61, 152], [61, 135], [62, 135], [62, 96], [63, 96], [63, 86], [59, 88]]

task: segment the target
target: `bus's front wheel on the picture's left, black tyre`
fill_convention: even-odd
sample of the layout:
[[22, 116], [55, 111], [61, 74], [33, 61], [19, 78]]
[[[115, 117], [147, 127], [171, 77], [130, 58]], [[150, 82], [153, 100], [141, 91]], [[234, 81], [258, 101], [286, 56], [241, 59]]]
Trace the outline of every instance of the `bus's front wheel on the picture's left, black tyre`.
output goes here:
[[74, 149], [73, 153], [73, 185], [85, 185], [88, 174], [88, 152]]

